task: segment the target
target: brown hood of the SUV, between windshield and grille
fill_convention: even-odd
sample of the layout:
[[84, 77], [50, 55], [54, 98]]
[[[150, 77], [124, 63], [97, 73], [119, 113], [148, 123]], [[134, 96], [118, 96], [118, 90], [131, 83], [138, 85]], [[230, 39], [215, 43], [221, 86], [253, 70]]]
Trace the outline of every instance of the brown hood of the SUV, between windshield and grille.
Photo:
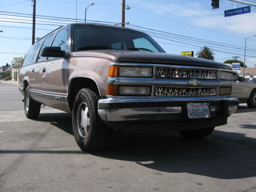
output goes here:
[[222, 68], [231, 70], [227, 64], [222, 64], [212, 60], [156, 52], [120, 51], [120, 50], [95, 50], [72, 52], [72, 56], [98, 57], [122, 63], [149, 63], [149, 64], [169, 64], [186, 66], [203, 66], [210, 68]]

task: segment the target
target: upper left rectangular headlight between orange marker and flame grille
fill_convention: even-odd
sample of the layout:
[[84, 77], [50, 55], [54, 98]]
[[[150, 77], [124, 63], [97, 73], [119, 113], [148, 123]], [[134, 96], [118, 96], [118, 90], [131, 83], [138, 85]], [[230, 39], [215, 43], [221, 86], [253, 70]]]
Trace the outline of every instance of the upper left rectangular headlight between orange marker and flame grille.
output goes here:
[[151, 67], [125, 67], [120, 66], [120, 77], [152, 77]]

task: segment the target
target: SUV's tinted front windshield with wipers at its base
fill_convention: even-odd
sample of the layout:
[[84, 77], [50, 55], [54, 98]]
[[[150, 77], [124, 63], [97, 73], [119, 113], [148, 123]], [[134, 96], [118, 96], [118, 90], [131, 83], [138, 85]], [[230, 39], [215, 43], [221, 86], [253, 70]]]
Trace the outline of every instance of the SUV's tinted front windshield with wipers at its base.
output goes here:
[[147, 34], [108, 26], [74, 25], [73, 50], [164, 52]]

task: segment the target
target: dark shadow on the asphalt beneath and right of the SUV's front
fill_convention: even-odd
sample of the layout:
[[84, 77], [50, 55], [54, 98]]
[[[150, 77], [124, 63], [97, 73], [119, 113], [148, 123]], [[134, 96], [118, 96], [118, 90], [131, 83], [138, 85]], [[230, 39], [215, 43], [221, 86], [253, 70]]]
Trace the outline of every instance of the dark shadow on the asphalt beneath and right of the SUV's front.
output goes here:
[[202, 140], [187, 140], [178, 132], [114, 134], [108, 148], [95, 156], [131, 161], [161, 172], [220, 179], [256, 176], [256, 139], [215, 130]]

